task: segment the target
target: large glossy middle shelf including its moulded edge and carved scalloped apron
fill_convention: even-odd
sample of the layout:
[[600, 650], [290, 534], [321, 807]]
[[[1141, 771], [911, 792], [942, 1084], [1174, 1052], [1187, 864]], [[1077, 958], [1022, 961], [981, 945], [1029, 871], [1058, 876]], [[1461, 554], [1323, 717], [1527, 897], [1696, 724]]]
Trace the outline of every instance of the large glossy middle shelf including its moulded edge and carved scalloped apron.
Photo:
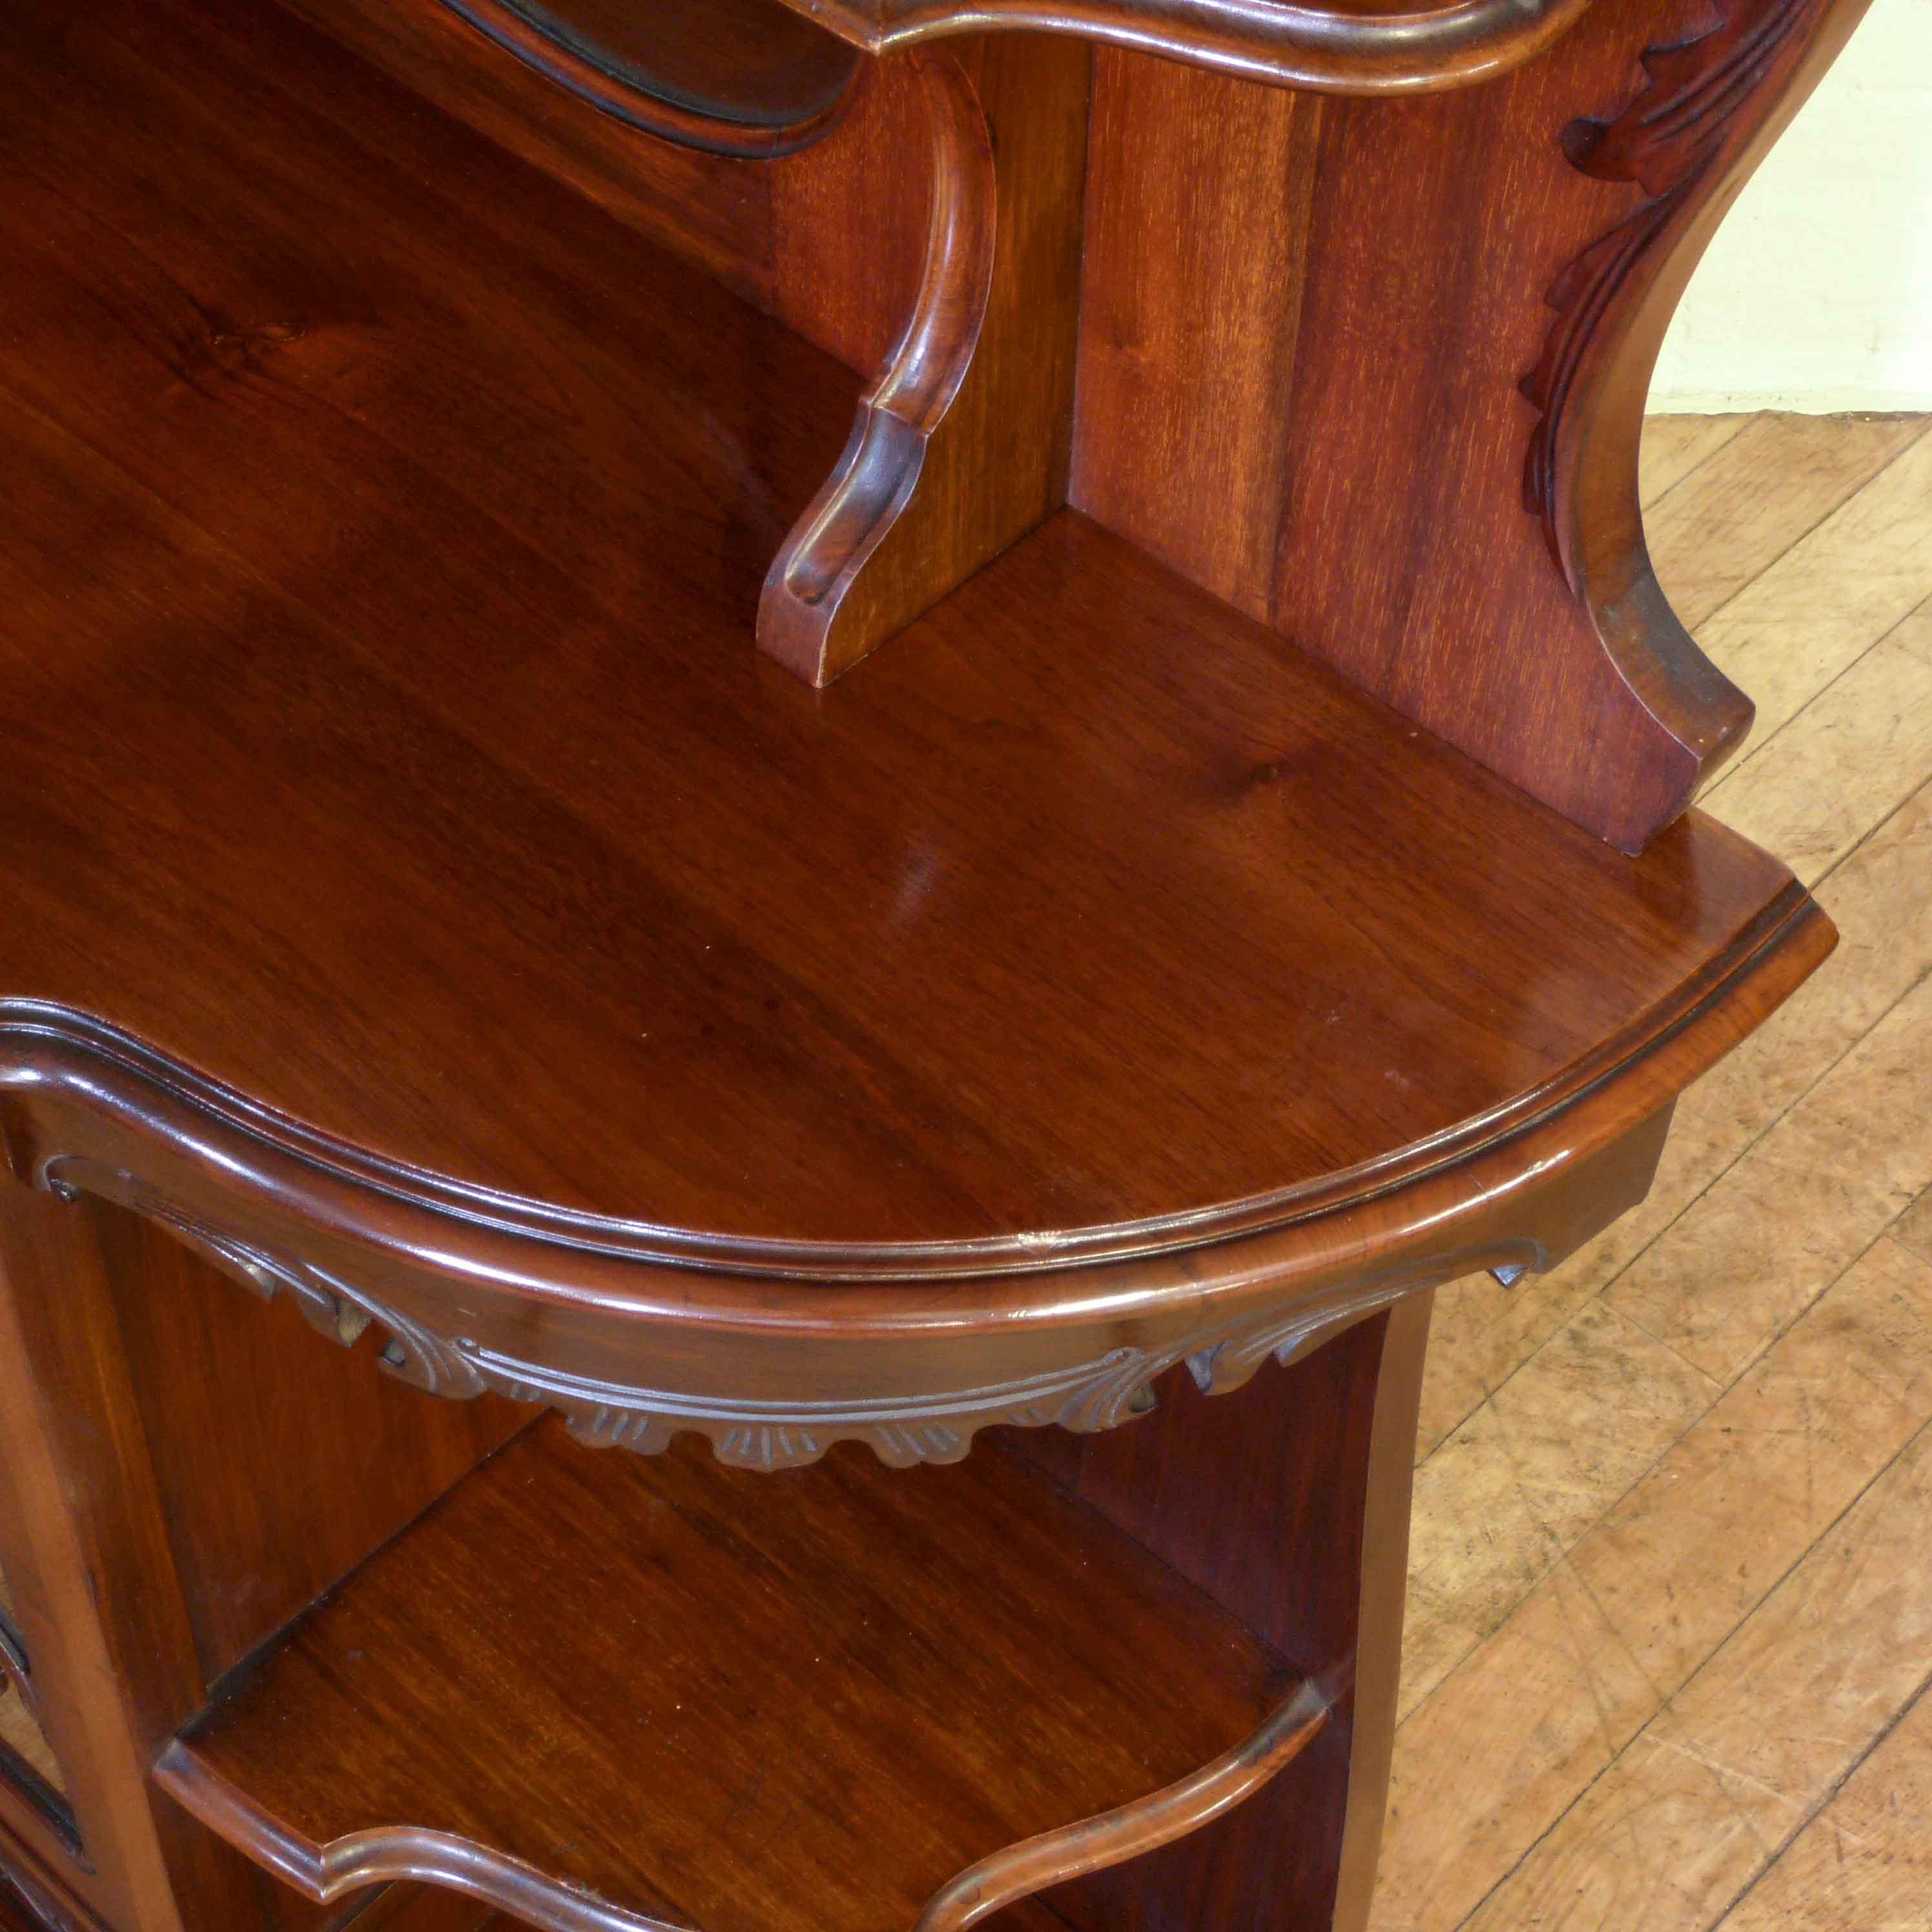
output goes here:
[[[1830, 947], [1723, 827], [1629, 860], [1074, 510], [800, 686], [750, 626], [842, 365], [276, 8], [39, 17], [17, 1146], [417, 1385], [759, 1464], [1236, 1387], [1385, 1296], [1364, 1227], [1439, 1279], [1594, 1231], [1526, 1175], [1629, 1206]], [[1215, 1238], [1277, 1246], [1146, 1265]]]

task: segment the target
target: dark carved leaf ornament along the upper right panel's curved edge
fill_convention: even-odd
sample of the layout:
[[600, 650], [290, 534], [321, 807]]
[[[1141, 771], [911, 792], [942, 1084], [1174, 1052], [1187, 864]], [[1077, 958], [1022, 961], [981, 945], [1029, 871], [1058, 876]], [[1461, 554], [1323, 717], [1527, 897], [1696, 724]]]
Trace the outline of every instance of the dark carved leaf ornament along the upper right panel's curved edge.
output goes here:
[[1575, 120], [1563, 129], [1571, 166], [1600, 182], [1634, 182], [1650, 197], [1551, 284], [1548, 301], [1557, 319], [1542, 359], [1520, 384], [1540, 412], [1522, 471], [1522, 502], [1542, 520], [1549, 554], [1578, 595], [1584, 585], [1563, 529], [1557, 452], [1584, 359], [1625, 284], [1716, 168], [1729, 124], [1816, 12], [1816, 0], [1723, 4], [1727, 12], [1708, 33], [1644, 50], [1648, 79], [1615, 120]]

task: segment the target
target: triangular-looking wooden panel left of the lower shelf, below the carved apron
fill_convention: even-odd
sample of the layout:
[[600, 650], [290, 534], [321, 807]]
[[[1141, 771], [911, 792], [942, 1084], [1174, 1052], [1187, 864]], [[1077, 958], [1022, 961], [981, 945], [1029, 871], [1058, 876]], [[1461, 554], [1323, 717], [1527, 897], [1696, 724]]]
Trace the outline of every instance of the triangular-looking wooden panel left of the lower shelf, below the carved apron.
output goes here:
[[205, 1683], [529, 1422], [404, 1387], [375, 1335], [332, 1349], [126, 1209], [99, 1229]]

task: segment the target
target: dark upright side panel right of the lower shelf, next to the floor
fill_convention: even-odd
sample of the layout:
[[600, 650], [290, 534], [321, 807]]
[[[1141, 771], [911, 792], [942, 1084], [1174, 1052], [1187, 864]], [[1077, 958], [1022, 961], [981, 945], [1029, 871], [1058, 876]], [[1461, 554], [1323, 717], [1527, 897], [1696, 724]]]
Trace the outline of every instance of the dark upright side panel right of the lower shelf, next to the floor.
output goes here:
[[1335, 1696], [1329, 1727], [1229, 1816], [1045, 1903], [1078, 1932], [1360, 1932], [1387, 1803], [1432, 1293], [1238, 1399], [1186, 1374], [1132, 1428], [1014, 1443]]

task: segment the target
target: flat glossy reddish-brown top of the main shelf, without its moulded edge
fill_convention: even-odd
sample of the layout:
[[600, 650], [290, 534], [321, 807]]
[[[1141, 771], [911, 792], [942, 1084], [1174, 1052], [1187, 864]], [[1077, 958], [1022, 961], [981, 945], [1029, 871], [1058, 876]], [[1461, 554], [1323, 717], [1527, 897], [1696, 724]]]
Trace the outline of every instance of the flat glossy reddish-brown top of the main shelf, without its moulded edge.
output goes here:
[[750, 612], [842, 371], [274, 10], [60, 12], [0, 23], [8, 999], [477, 1188], [985, 1240], [1522, 1101], [1785, 891], [1076, 516], [796, 688]]

